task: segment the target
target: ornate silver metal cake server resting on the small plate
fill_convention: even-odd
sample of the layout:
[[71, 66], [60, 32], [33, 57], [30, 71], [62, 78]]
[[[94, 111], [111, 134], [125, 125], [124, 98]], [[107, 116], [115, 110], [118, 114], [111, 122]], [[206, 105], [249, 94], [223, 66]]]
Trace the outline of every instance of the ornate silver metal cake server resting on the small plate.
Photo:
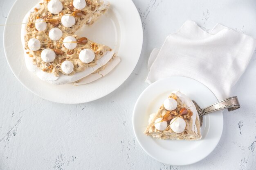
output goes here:
[[233, 111], [233, 110], [240, 108], [240, 104], [239, 104], [237, 96], [233, 96], [233, 97], [221, 100], [219, 102], [216, 102], [213, 105], [211, 105], [205, 109], [201, 109], [194, 100], [193, 100], [193, 103], [195, 104], [196, 110], [198, 111], [200, 126], [202, 126], [203, 116], [206, 114], [209, 114], [213, 111], [222, 110], [222, 109], [227, 109], [228, 111]]

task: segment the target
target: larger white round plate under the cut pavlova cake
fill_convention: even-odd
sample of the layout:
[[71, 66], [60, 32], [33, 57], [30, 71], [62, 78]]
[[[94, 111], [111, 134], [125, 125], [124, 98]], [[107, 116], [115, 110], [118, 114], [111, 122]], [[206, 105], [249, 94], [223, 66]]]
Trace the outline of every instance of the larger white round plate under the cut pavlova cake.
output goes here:
[[[111, 7], [92, 26], [77, 31], [99, 44], [110, 46], [121, 62], [108, 75], [88, 85], [51, 85], [41, 81], [25, 65], [20, 38], [21, 25], [4, 28], [4, 51], [7, 61], [18, 80], [34, 94], [60, 103], [83, 103], [99, 99], [117, 89], [130, 76], [139, 59], [143, 32], [139, 13], [132, 0], [108, 0]], [[22, 23], [26, 13], [39, 0], [16, 0], [6, 24]]]

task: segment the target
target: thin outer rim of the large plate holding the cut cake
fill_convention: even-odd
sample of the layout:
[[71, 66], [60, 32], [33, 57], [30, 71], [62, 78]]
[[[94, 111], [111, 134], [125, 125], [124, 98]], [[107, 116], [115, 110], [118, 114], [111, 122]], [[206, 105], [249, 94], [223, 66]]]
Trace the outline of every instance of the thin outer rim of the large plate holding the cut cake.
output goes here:
[[[39, 1], [39, 0], [38, 0]], [[11, 67], [11, 64], [10, 64], [10, 61], [7, 57], [7, 52], [6, 52], [6, 40], [5, 40], [5, 34], [7, 32], [7, 26], [4, 26], [4, 30], [3, 30], [3, 47], [4, 47], [4, 55], [5, 55], [5, 58], [7, 60], [7, 63], [9, 65], [9, 68], [11, 69], [11, 72], [14, 74], [14, 76], [18, 79], [18, 81], [26, 88], [28, 89], [30, 92], [32, 92], [33, 94], [35, 94], [36, 96], [39, 96], [40, 98], [43, 98], [45, 100], [48, 100], [48, 101], [51, 101], [51, 102], [56, 102], [56, 103], [61, 103], [61, 104], [81, 104], [81, 103], [87, 103], [87, 102], [92, 102], [92, 101], [95, 101], [95, 100], [98, 100], [100, 98], [103, 98], [109, 94], [111, 94], [112, 92], [114, 92], [117, 88], [119, 88], [128, 78], [129, 76], [132, 74], [133, 70], [136, 68], [137, 64], [138, 64], [138, 61], [139, 61], [139, 58], [141, 56], [141, 52], [142, 52], [142, 47], [143, 47], [143, 39], [144, 39], [144, 34], [143, 34], [143, 26], [142, 26], [142, 22], [141, 22], [141, 18], [140, 18], [140, 15], [139, 15], [139, 11], [137, 9], [137, 7], [135, 6], [134, 2], [132, 0], [127, 0], [127, 1], [130, 1], [131, 2], [131, 7], [136, 9], [136, 13], [134, 13], [134, 15], [136, 15], [136, 18], [137, 20], [139, 21], [139, 24], [137, 25], [139, 27], [139, 29], [137, 30], [138, 33], [139, 33], [139, 40], [140, 41], [137, 41], [138, 42], [138, 46], [139, 46], [139, 54], [136, 59], [136, 64], [131, 68], [131, 72], [130, 74], [123, 80], [123, 81], [120, 81], [119, 85], [108, 91], [106, 94], [104, 95], [101, 95], [101, 96], [98, 96], [98, 97], [95, 97], [93, 99], [89, 99], [89, 100], [86, 100], [86, 101], [80, 101], [80, 102], [72, 102], [72, 100], [69, 100], [70, 102], [66, 102], [66, 101], [57, 101], [57, 100], [54, 100], [52, 98], [46, 98], [44, 96], [42, 96], [41, 94], [38, 94], [36, 91], [30, 89], [27, 85], [25, 85], [21, 80], [20, 78], [18, 77], [18, 74], [16, 74], [14, 71], [13, 71], [13, 68]], [[5, 24], [7, 24], [7, 22], [10, 20], [10, 14], [11, 12], [13, 11], [13, 7], [16, 5], [16, 3], [18, 2], [18, 0], [15, 0], [15, 2], [13, 2], [13, 5], [11, 6], [9, 12], [8, 12], [8, 15], [7, 15], [7, 18], [5, 20]], [[20, 41], [20, 38], [19, 38], [19, 41]], [[23, 55], [23, 52], [22, 52], [22, 55]], [[34, 74], [34, 73], [33, 73]]]

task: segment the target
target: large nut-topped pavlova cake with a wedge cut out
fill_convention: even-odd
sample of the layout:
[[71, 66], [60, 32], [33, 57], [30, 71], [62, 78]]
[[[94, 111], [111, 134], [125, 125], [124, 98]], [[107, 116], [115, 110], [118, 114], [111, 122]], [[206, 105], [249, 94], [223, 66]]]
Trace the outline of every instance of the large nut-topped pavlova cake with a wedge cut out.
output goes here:
[[75, 35], [108, 8], [100, 0], [41, 0], [23, 20], [27, 69], [54, 85], [82, 85], [108, 74], [120, 61], [114, 51]]

